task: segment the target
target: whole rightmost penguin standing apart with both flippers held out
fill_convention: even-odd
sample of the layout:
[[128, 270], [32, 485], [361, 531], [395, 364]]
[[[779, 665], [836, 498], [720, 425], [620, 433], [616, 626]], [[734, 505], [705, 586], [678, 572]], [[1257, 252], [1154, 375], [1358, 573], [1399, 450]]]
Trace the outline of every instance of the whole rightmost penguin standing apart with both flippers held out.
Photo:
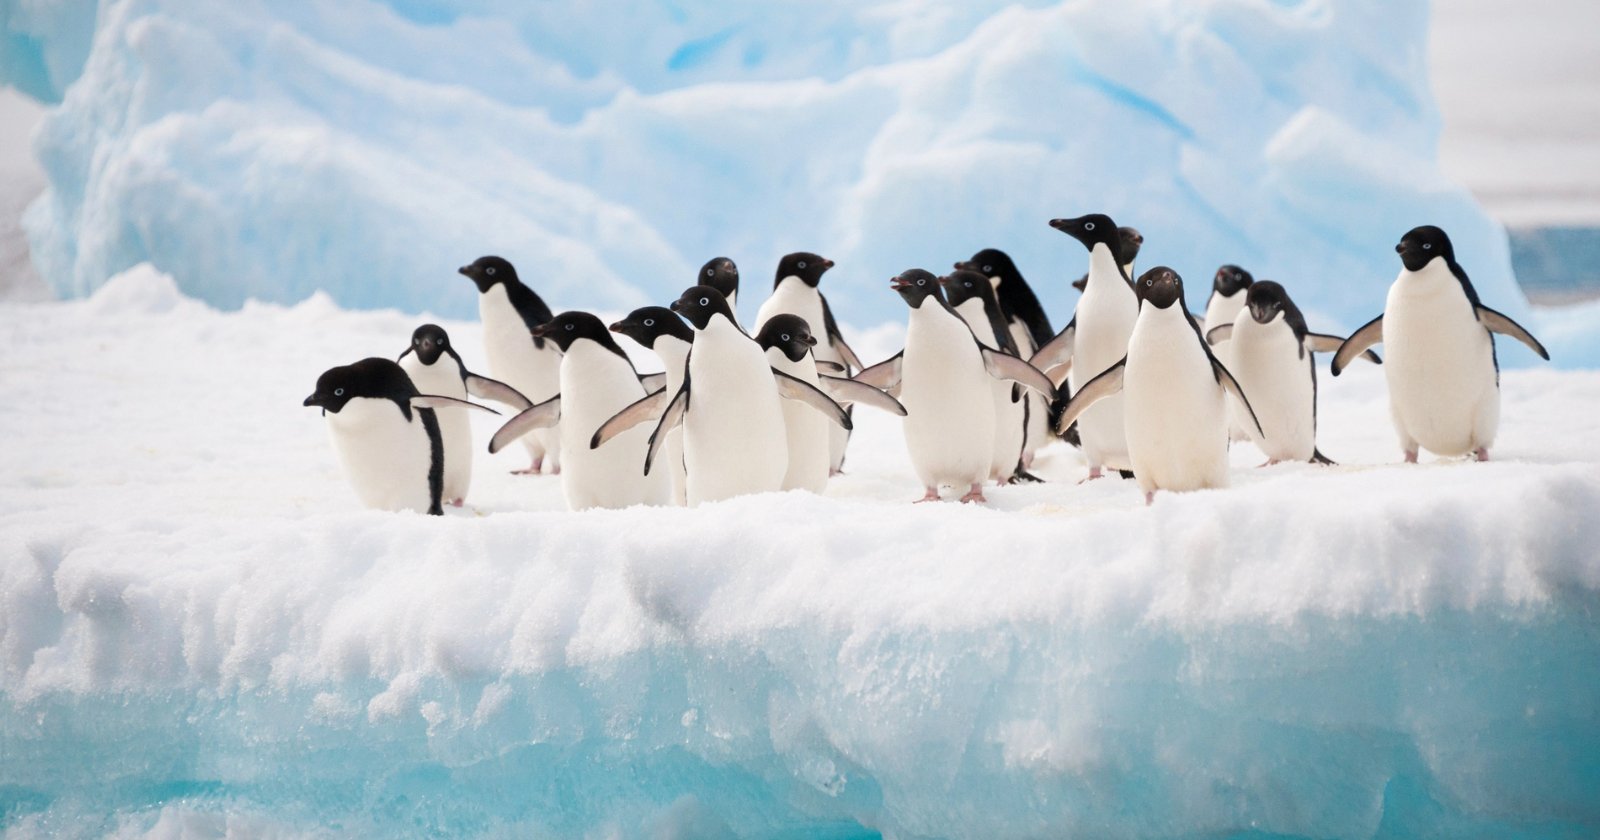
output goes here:
[[1413, 227], [1395, 245], [1400, 275], [1389, 286], [1384, 314], [1350, 334], [1333, 355], [1339, 376], [1357, 354], [1382, 342], [1389, 414], [1406, 464], [1418, 450], [1490, 459], [1499, 430], [1499, 358], [1494, 334], [1526, 344], [1549, 362], [1539, 339], [1478, 301], [1456, 262], [1450, 237], [1434, 226]]

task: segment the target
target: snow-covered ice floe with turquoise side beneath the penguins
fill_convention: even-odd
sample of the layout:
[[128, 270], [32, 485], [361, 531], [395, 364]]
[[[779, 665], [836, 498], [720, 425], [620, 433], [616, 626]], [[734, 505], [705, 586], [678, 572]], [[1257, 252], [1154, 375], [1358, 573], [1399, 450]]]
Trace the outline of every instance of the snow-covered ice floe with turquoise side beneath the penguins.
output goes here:
[[1494, 462], [1405, 467], [1357, 365], [1344, 466], [1149, 509], [1061, 446], [907, 504], [858, 411], [826, 496], [570, 514], [483, 453], [437, 518], [299, 405], [418, 317], [136, 269], [0, 323], [8, 837], [1600, 832], [1600, 373], [1507, 371]]

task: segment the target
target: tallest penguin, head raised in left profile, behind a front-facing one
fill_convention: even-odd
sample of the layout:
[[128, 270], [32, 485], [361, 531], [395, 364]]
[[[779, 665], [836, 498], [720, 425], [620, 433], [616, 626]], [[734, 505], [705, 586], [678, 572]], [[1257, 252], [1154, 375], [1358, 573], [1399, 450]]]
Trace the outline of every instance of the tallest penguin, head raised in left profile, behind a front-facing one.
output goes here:
[[[1070, 363], [1067, 386], [1069, 392], [1077, 394], [1090, 379], [1128, 355], [1139, 299], [1123, 269], [1130, 259], [1122, 251], [1122, 234], [1110, 216], [1094, 213], [1077, 219], [1053, 219], [1050, 226], [1088, 248], [1090, 272], [1072, 322], [1034, 354], [1032, 363], [1046, 371]], [[1058, 434], [1066, 429], [1058, 424]], [[1090, 466], [1086, 480], [1099, 478], [1102, 467], [1125, 474], [1131, 469], [1120, 395], [1109, 397], [1083, 414], [1078, 438]]]

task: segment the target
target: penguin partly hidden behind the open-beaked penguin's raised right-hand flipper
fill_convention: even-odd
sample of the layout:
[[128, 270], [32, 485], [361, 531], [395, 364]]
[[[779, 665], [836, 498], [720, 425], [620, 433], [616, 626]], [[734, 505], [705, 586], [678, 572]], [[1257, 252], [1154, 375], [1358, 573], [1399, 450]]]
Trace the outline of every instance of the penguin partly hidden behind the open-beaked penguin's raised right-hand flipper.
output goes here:
[[[966, 322], [966, 328], [973, 331], [979, 344], [1021, 358], [1016, 338], [1011, 334], [987, 277], [957, 269], [949, 277], [941, 277], [939, 286], [944, 288], [950, 309]], [[1030, 338], [1029, 344], [1032, 344]], [[1040, 478], [1022, 466], [1029, 400], [1022, 389], [1011, 382], [990, 381], [989, 389], [995, 403], [994, 461], [989, 464], [989, 477], [997, 485], [1038, 482]]]

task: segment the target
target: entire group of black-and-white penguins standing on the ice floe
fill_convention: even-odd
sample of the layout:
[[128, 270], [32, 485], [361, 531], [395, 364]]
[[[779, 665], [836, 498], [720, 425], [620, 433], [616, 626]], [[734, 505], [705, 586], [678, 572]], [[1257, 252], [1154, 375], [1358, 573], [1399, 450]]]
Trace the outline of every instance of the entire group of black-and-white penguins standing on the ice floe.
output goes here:
[[[1106, 214], [1050, 226], [1088, 251], [1061, 331], [992, 248], [942, 277], [891, 278], [909, 307], [906, 347], [870, 366], [819, 290], [834, 262], [813, 253], [779, 261], [754, 336], [734, 314], [739, 270], [726, 258], [670, 307], [606, 326], [589, 312], [552, 314], [510, 262], [485, 256], [461, 274], [478, 290], [494, 378], [469, 371], [445, 330], [424, 325], [398, 362], [328, 370], [304, 405], [323, 410], [362, 502], [386, 510], [464, 502], [469, 411], [493, 411], [469, 397], [517, 411], [490, 451], [520, 443], [530, 466], [517, 472], [560, 474], [574, 510], [821, 493], [843, 466], [858, 405], [901, 418], [918, 501], [955, 488], [982, 502], [990, 480], [1037, 482], [1035, 453], [1064, 438], [1082, 450], [1085, 480], [1117, 470], [1150, 502], [1158, 490], [1226, 486], [1237, 440], [1256, 443], [1267, 464], [1331, 464], [1317, 448], [1317, 352], [1333, 354], [1334, 376], [1358, 357], [1384, 366], [1406, 462], [1419, 448], [1488, 459], [1499, 426], [1493, 333], [1549, 358], [1478, 301], [1438, 227], [1402, 237], [1382, 315], [1342, 339], [1309, 331], [1282, 285], [1237, 266], [1216, 272], [1194, 315], [1173, 269], [1134, 278], [1138, 230]], [[640, 376], [613, 333], [653, 350], [664, 373]], [[1378, 342], [1387, 360], [1371, 350]]]

